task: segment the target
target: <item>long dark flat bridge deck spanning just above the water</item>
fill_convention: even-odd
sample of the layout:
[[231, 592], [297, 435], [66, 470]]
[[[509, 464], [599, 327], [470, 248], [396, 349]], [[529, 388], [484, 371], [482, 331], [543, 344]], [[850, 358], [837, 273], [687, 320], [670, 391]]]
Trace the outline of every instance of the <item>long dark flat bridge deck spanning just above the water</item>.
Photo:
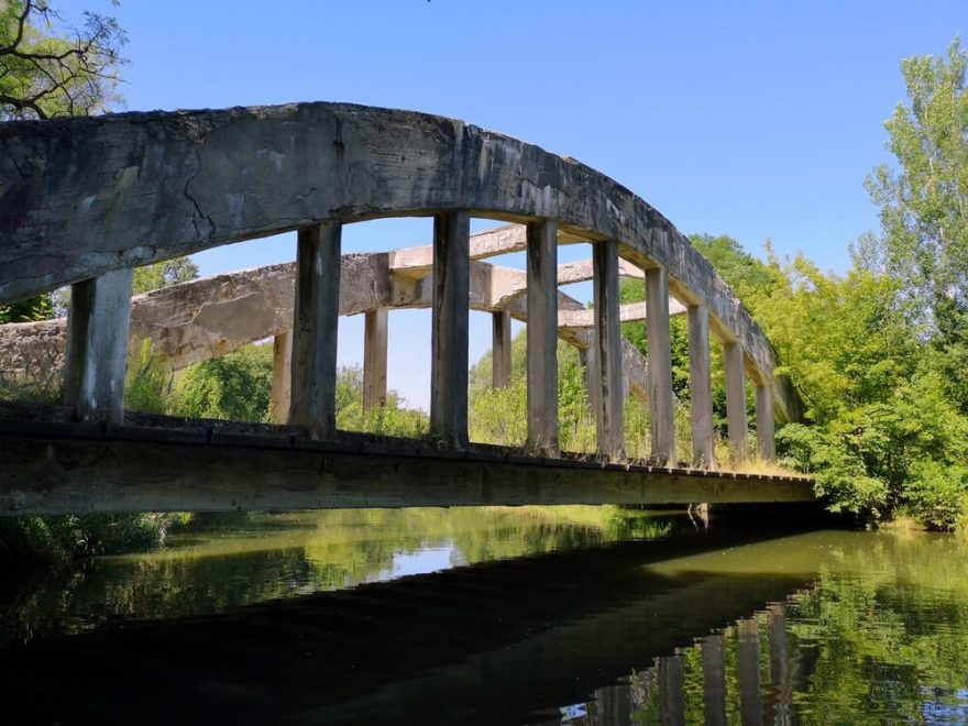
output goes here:
[[518, 449], [129, 414], [78, 424], [65, 409], [0, 416], [0, 515], [525, 504], [812, 502], [809, 477], [610, 464]]

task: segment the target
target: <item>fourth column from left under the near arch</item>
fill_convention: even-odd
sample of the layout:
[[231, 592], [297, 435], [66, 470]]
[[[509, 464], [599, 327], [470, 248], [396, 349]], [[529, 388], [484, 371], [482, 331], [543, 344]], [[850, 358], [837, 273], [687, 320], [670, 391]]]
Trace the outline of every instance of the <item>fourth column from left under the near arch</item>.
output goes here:
[[558, 457], [558, 227], [528, 235], [528, 448]]

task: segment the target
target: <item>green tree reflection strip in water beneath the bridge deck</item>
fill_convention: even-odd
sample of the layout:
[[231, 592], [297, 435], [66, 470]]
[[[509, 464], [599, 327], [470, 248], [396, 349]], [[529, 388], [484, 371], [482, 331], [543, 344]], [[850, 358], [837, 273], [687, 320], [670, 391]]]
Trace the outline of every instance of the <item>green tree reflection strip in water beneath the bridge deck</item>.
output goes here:
[[452, 548], [473, 564], [669, 531], [668, 517], [610, 506], [204, 516], [169, 548], [102, 558], [80, 575], [7, 592], [0, 641], [350, 587], [389, 576], [396, 556], [428, 548]]

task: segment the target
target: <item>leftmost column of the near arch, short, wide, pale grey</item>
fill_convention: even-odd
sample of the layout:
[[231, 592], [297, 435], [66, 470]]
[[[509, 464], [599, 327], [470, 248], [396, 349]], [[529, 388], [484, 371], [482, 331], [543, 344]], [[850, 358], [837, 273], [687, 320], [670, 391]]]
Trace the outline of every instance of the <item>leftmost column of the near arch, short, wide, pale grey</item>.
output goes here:
[[113, 270], [70, 286], [64, 404], [82, 421], [124, 422], [132, 274]]

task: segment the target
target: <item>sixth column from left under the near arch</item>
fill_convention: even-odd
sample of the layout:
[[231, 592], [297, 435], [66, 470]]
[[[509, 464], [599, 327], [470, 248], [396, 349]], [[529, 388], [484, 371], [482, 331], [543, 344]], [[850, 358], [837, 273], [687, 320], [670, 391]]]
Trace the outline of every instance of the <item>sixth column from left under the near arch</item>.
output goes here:
[[674, 466], [675, 418], [672, 407], [672, 346], [669, 340], [669, 273], [646, 271], [646, 336], [649, 341], [649, 417], [651, 458]]

